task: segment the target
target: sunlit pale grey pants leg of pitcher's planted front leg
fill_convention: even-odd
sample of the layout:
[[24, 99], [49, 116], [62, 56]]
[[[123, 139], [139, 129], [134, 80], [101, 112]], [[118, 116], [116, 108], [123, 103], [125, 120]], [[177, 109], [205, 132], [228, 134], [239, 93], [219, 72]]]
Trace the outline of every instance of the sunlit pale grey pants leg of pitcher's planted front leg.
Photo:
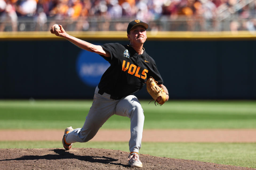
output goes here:
[[141, 148], [144, 114], [139, 100], [134, 95], [126, 96], [117, 103], [115, 114], [127, 116], [131, 120], [130, 152], [139, 152]]

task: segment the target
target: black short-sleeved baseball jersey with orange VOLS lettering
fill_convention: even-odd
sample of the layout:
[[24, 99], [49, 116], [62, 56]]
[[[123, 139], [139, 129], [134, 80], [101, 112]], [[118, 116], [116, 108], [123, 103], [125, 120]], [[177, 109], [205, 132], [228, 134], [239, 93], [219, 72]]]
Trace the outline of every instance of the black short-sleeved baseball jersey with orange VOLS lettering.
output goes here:
[[163, 84], [153, 58], [145, 51], [138, 54], [131, 46], [119, 43], [101, 45], [111, 57], [105, 57], [110, 67], [101, 77], [98, 88], [107, 94], [123, 97], [139, 91], [149, 77]]

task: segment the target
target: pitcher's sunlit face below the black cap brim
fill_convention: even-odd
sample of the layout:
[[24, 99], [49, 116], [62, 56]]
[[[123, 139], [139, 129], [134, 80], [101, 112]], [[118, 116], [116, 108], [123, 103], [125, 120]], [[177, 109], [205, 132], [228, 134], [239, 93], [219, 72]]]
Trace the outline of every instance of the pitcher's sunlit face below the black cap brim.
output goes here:
[[131, 29], [130, 34], [128, 34], [127, 37], [130, 40], [130, 44], [143, 44], [147, 39], [146, 29], [145, 27], [138, 25]]

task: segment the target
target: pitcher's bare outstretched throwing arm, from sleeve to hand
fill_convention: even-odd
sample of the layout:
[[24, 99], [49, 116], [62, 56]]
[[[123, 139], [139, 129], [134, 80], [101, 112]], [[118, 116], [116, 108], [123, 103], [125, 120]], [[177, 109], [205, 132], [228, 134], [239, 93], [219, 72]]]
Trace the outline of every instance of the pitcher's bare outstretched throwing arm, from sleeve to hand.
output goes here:
[[54, 31], [54, 28], [52, 26], [52, 28], [50, 30], [51, 33], [55, 34], [58, 37], [63, 37], [65, 39], [69, 40], [71, 43], [75, 44], [79, 48], [82, 48], [84, 50], [87, 50], [87, 51], [90, 51], [90, 52], [93, 52], [93, 53], [103, 55], [105, 57], [110, 57], [110, 53], [108, 51], [104, 50], [102, 48], [102, 46], [93, 45], [93, 44], [88, 43], [86, 41], [80, 40], [76, 37], [73, 37], [73, 36], [69, 35], [68, 33], [66, 33], [66, 31], [63, 29], [62, 25], [59, 25], [59, 27], [60, 27], [59, 30]]

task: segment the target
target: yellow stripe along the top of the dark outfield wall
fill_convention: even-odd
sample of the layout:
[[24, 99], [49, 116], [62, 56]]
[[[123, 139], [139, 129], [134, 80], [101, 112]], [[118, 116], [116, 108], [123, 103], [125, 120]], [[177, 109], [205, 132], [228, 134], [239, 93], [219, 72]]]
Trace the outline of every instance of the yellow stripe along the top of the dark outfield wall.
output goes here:
[[[126, 31], [70, 31], [69, 35], [85, 40], [127, 40]], [[256, 40], [256, 32], [182, 32], [182, 31], [148, 31], [149, 41], [162, 40]], [[50, 33], [43, 32], [0, 32], [0, 41], [5, 40], [64, 40]]]

